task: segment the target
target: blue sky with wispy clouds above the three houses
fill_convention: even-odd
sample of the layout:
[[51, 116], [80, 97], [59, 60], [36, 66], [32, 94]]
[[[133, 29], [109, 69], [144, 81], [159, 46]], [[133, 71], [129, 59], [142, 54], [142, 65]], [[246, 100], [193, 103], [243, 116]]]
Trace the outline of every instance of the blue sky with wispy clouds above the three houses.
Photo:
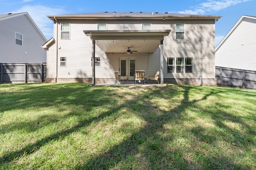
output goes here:
[[87, 12], [172, 12], [223, 16], [216, 22], [218, 45], [242, 15], [256, 16], [256, 0], [0, 0], [0, 13], [28, 12], [46, 39], [53, 36], [47, 15]]

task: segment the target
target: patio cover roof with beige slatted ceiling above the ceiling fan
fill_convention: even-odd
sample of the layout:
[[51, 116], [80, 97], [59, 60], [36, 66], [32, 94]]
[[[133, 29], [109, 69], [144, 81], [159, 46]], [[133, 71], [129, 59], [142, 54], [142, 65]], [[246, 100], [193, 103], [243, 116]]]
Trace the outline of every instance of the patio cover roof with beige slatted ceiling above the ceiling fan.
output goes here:
[[126, 53], [128, 47], [134, 53], [154, 53], [160, 41], [171, 30], [92, 30], [84, 31], [105, 53]]

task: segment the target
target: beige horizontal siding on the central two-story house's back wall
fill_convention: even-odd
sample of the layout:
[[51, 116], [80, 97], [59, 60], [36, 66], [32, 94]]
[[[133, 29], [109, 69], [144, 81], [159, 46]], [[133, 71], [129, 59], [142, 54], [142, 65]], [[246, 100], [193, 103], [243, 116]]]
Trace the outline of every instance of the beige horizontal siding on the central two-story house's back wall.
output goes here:
[[[91, 78], [92, 41], [84, 30], [97, 30], [97, 23], [107, 23], [108, 30], [141, 30], [141, 21], [86, 21], [86, 20], [59, 20], [58, 23], [70, 23], [70, 39], [60, 39], [58, 26], [58, 78]], [[164, 38], [164, 78], [215, 78], [215, 26], [214, 21], [182, 20], [182, 21], [147, 21], [152, 23], [152, 29], [171, 29], [170, 35]], [[175, 23], [185, 23], [185, 40], [175, 39]], [[56, 33], [56, 31], [55, 31]], [[55, 47], [56, 48], [56, 47]], [[51, 47], [48, 52], [48, 70], [55, 72], [54, 58], [56, 54]], [[114, 70], [119, 69], [119, 57], [137, 57], [137, 69], [145, 70], [147, 76], [160, 71], [160, 47], [153, 53], [116, 54], [104, 53], [96, 45], [96, 56], [100, 57], [101, 65], [96, 66], [96, 78], [114, 78]], [[125, 52], [125, 51], [124, 51]], [[55, 56], [54, 56], [55, 55]], [[52, 56], [52, 57], [50, 57]], [[67, 57], [66, 67], [60, 67], [60, 57]], [[193, 57], [193, 73], [167, 73], [168, 57]], [[50, 63], [50, 64], [49, 64]], [[56, 64], [55, 64], [56, 65]], [[50, 72], [50, 71], [49, 71]], [[54, 73], [48, 76], [54, 76]]]

